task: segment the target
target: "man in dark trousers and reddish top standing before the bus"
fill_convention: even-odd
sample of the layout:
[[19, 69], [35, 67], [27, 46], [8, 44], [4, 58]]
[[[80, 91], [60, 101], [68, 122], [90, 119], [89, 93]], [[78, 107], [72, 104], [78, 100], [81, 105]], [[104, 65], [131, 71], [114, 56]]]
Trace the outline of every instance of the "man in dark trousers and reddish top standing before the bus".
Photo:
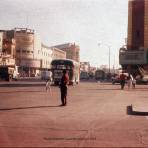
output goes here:
[[61, 91], [61, 106], [67, 105], [67, 89], [69, 84], [69, 76], [66, 70], [63, 70], [63, 75], [60, 82], [60, 91]]

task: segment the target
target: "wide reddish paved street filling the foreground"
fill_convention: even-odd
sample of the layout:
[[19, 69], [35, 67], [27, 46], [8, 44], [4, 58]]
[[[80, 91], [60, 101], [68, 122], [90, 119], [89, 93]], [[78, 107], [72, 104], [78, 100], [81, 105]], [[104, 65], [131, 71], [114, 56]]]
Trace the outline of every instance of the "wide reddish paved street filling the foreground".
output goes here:
[[[148, 85], [0, 82], [0, 147], [148, 147]], [[132, 104], [133, 111], [129, 111]]]

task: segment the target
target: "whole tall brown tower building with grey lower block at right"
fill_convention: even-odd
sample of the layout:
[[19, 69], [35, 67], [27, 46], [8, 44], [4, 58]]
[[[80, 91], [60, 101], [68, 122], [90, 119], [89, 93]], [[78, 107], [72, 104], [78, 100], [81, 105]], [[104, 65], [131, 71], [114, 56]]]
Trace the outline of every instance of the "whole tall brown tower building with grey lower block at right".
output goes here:
[[127, 45], [119, 52], [123, 69], [148, 70], [148, 0], [129, 0]]

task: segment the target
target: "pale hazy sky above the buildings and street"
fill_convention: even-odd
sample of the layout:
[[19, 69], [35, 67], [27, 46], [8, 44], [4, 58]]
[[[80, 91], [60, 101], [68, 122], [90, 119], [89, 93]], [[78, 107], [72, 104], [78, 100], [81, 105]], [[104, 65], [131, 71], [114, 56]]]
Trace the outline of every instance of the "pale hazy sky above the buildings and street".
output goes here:
[[76, 43], [80, 61], [119, 66], [128, 0], [0, 0], [0, 30], [34, 29], [47, 46]]

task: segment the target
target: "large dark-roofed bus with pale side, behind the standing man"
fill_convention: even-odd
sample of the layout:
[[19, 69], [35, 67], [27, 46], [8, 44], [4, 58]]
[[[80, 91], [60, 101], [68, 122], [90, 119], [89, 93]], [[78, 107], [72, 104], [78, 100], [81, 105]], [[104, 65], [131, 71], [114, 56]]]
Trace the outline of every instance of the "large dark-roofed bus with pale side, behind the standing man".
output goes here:
[[60, 83], [63, 70], [66, 69], [69, 75], [69, 84], [78, 84], [80, 81], [80, 64], [71, 59], [54, 59], [51, 62], [52, 79], [55, 85]]

